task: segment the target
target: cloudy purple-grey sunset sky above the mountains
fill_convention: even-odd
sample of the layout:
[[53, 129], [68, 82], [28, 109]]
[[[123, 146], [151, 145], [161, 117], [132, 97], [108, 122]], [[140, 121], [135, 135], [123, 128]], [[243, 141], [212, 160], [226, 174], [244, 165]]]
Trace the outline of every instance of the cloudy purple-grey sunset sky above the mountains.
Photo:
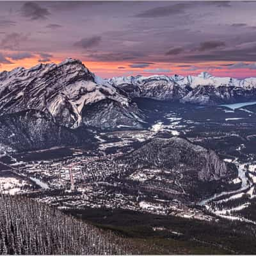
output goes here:
[[0, 72], [77, 58], [101, 77], [256, 77], [256, 1], [0, 1]]

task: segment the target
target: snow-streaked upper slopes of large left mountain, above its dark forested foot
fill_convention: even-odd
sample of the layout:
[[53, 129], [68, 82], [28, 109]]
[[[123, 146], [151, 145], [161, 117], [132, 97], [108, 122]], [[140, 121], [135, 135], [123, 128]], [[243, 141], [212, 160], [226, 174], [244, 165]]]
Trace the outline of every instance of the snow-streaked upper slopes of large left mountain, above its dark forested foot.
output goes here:
[[[60, 125], [77, 128], [83, 125], [82, 113], [86, 106], [108, 99], [109, 103], [115, 102], [116, 108], [122, 112], [123, 122], [125, 116], [131, 118], [130, 112], [140, 116], [132, 100], [120, 89], [95, 82], [95, 75], [81, 61], [70, 58], [58, 65], [38, 64], [29, 69], [1, 72], [0, 113], [38, 109], [51, 113]], [[133, 123], [140, 125], [138, 118]]]

